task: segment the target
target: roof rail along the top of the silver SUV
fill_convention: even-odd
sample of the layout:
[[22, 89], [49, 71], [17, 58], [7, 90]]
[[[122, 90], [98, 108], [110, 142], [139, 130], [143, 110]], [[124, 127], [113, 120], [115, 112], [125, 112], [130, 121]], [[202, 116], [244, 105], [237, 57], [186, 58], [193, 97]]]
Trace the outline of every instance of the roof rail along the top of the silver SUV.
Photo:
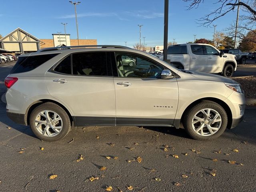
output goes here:
[[63, 47], [50, 47], [38, 50], [37, 52], [44, 52], [44, 51], [55, 51], [55, 50], [62, 50], [62, 49], [72, 49], [72, 48], [124, 48], [124, 49], [132, 49], [126, 46], [120, 45], [80, 45], [80, 46], [63, 46]]

